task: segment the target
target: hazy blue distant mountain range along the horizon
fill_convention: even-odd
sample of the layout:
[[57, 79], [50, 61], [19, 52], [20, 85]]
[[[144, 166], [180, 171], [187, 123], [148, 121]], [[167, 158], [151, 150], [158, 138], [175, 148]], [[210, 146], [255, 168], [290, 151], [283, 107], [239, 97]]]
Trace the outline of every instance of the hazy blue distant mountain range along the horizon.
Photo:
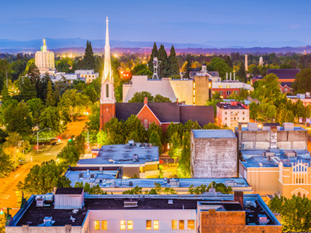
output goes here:
[[[72, 51], [73, 53], [84, 53], [86, 41], [82, 38], [64, 38], [51, 39], [46, 38], [47, 48], [55, 53], [64, 53]], [[105, 40], [90, 40], [92, 48], [95, 53], [103, 53]], [[40, 50], [42, 46], [42, 39], [38, 40], [6, 40], [0, 39], [0, 53], [34, 53]], [[193, 43], [171, 43], [171, 42], [157, 42], [158, 47], [164, 45], [167, 51], [174, 45], [177, 53], [231, 53], [232, 51], [239, 51], [240, 53], [309, 53], [311, 48], [306, 46], [305, 42], [298, 40], [290, 40], [286, 42], [269, 42], [262, 43], [259, 41], [234, 41], [222, 40], [212, 41], [208, 40], [203, 45]], [[259, 47], [258, 45], [262, 46]], [[287, 47], [286, 47], [287, 46]], [[110, 47], [112, 52], [124, 53], [149, 53], [153, 47], [153, 42], [140, 41], [120, 41], [110, 40]]]

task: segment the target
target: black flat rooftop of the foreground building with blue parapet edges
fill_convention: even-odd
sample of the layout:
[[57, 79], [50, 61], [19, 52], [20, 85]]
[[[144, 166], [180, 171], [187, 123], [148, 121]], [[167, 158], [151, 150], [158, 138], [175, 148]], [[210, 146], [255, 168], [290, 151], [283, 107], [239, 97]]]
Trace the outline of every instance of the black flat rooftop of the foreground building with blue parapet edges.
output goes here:
[[[168, 204], [169, 199], [173, 204]], [[55, 221], [53, 226], [64, 226], [70, 224], [81, 226], [88, 211], [91, 210], [197, 210], [197, 204], [204, 206], [204, 210], [214, 208], [215, 205], [223, 206], [216, 211], [245, 211], [246, 214], [264, 214], [268, 221], [262, 225], [279, 225], [273, 213], [264, 204], [260, 195], [244, 195], [244, 207], [234, 201], [234, 195], [84, 195], [84, 206], [78, 212], [73, 210], [55, 209], [53, 204], [45, 207], [36, 206], [36, 196], [32, 195], [27, 201], [25, 208], [18, 211], [10, 222], [12, 226], [38, 226], [43, 223], [45, 217], [52, 217]], [[124, 201], [137, 201], [138, 206], [124, 207]], [[71, 221], [71, 217], [75, 221]], [[258, 221], [258, 219], [256, 219]], [[253, 225], [251, 218], [246, 218], [247, 225]]]

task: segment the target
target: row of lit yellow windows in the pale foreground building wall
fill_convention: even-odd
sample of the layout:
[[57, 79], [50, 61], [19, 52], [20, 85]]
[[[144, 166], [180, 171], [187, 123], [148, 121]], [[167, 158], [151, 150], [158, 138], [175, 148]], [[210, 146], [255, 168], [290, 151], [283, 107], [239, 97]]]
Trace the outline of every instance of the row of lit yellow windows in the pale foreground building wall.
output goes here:
[[[153, 224], [152, 224], [153, 222]], [[178, 224], [179, 223], [179, 224]], [[195, 220], [188, 220], [188, 230], [195, 230]], [[134, 224], [133, 220], [121, 220], [120, 230], [133, 230]], [[95, 230], [107, 230], [107, 220], [95, 220], [94, 221]], [[159, 230], [159, 220], [146, 220], [146, 230]], [[172, 220], [172, 230], [185, 230], [184, 220]]]

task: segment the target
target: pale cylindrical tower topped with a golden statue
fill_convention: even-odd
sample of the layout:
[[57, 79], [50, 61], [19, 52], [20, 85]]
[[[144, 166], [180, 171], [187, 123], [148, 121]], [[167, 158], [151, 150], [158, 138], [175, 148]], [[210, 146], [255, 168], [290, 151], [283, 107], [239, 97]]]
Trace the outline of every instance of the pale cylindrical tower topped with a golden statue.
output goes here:
[[54, 53], [52, 51], [47, 51], [45, 39], [43, 39], [41, 50], [36, 52], [35, 64], [41, 75], [45, 75], [45, 73], [53, 75], [56, 73]]

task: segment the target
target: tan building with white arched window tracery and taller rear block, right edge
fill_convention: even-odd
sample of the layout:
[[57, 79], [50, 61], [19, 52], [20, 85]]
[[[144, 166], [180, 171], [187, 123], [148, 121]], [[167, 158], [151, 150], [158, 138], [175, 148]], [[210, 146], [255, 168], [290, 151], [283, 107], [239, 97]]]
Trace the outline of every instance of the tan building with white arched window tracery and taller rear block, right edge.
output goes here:
[[308, 130], [293, 123], [249, 123], [236, 130], [240, 150], [239, 173], [260, 195], [279, 193], [311, 197]]

